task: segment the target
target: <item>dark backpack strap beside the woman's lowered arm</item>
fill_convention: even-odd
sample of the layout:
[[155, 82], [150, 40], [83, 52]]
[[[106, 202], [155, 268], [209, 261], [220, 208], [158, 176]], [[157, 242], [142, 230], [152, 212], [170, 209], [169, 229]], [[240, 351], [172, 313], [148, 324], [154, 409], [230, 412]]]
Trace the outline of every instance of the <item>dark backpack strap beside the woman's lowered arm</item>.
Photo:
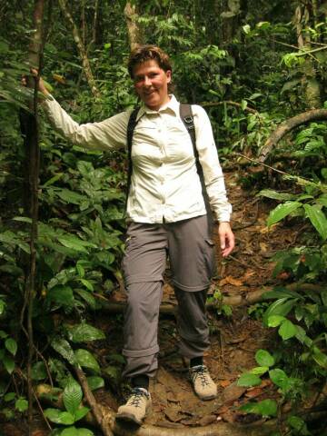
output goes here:
[[209, 229], [210, 229], [210, 231], [212, 231], [212, 229], [213, 229], [213, 212], [212, 212], [211, 207], [210, 207], [209, 195], [207, 193], [205, 183], [204, 183], [203, 167], [200, 163], [199, 152], [196, 148], [195, 126], [194, 126], [194, 119], [193, 119], [191, 104], [180, 104], [180, 116], [181, 116], [181, 119], [183, 121], [184, 126], [186, 127], [187, 132], [191, 136], [191, 141], [193, 144], [193, 154], [195, 157], [196, 171], [199, 175], [200, 182], [201, 182], [203, 200], [204, 200], [205, 210], [206, 210], [207, 217], [208, 217]]

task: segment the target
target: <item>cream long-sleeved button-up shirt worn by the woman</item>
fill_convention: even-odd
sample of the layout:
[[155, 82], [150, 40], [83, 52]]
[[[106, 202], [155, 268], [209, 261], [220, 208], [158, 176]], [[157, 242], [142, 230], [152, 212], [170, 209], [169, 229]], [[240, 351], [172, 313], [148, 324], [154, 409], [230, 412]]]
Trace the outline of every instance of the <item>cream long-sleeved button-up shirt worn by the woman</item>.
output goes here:
[[[77, 124], [53, 98], [43, 104], [55, 130], [74, 144], [89, 149], [116, 150], [127, 146], [131, 111], [100, 123]], [[196, 147], [204, 182], [215, 217], [230, 221], [223, 172], [208, 115], [193, 105]], [[142, 105], [137, 115], [132, 145], [133, 173], [127, 217], [136, 223], [173, 223], [206, 213], [201, 182], [196, 171], [193, 144], [172, 95], [158, 111]]]

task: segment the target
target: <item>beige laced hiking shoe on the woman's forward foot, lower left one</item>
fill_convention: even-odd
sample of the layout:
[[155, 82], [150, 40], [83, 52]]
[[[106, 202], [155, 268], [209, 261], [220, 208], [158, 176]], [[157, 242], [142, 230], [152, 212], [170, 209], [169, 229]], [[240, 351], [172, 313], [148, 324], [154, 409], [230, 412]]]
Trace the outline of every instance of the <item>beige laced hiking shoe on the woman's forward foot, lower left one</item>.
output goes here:
[[146, 414], [151, 410], [151, 395], [144, 388], [134, 388], [132, 395], [116, 414], [118, 421], [130, 421], [141, 425]]

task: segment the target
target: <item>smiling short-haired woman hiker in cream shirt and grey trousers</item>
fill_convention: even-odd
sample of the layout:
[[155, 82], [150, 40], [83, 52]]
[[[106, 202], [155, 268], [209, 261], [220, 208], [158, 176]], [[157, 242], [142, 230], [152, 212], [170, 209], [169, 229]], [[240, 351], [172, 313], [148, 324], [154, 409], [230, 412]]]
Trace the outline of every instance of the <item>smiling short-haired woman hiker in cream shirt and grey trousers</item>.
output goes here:
[[[117, 419], [141, 424], [151, 406], [149, 378], [157, 369], [157, 325], [167, 255], [179, 305], [180, 352], [189, 359], [190, 380], [202, 400], [217, 388], [203, 364], [209, 346], [205, 298], [215, 270], [215, 256], [193, 144], [179, 107], [168, 88], [172, 66], [154, 45], [138, 46], [130, 55], [129, 73], [142, 105], [136, 116], [132, 143], [133, 173], [127, 201], [127, 237], [123, 271], [127, 307], [124, 317], [124, 375], [133, 391], [118, 409]], [[53, 97], [43, 104], [54, 128], [75, 144], [112, 150], [126, 146], [130, 112], [101, 123], [75, 123]], [[223, 173], [209, 118], [193, 105], [196, 148], [214, 217], [219, 221], [223, 257], [233, 251]]]

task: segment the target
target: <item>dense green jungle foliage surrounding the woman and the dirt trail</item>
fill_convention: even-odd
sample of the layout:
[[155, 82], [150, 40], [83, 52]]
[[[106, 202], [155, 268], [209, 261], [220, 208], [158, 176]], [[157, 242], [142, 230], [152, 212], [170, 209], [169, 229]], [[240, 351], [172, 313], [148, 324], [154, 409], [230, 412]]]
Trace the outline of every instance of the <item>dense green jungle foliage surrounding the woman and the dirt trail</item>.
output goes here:
[[[131, 46], [146, 43], [171, 54], [174, 94], [207, 110], [223, 166], [242, 168], [238, 183], [270, 202], [267, 224], [303, 225], [296, 246], [275, 254], [274, 275], [310, 286], [300, 292], [282, 285], [257, 310], [267, 328], [279, 329], [284, 354], [259, 353], [259, 369], [244, 374], [241, 384], [254, 386], [269, 373], [281, 398], [244, 411], [277, 416], [279, 434], [322, 434], [299, 411], [282, 421], [281, 404], [301, 402], [312, 386], [325, 390], [326, 17], [322, 0], [1, 2], [5, 420], [28, 415], [31, 429], [36, 385], [46, 381], [64, 389], [64, 411], [45, 413], [61, 424], [54, 434], [93, 434], [74, 432], [88, 411], [79, 407], [84, 372], [92, 389], [104, 385], [87, 348], [104, 332], [89, 315], [123, 286], [125, 155], [67, 144], [45, 120], [35, 80], [25, 87], [21, 77], [38, 68], [77, 122], [100, 121], [137, 103], [126, 60]], [[326, 411], [325, 400], [319, 408]]]

